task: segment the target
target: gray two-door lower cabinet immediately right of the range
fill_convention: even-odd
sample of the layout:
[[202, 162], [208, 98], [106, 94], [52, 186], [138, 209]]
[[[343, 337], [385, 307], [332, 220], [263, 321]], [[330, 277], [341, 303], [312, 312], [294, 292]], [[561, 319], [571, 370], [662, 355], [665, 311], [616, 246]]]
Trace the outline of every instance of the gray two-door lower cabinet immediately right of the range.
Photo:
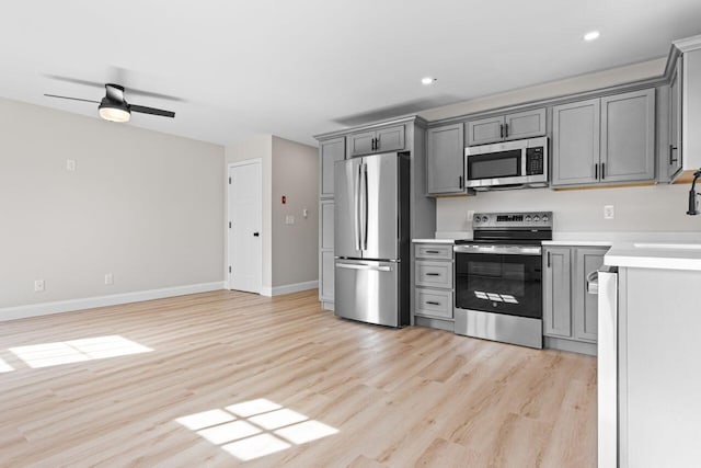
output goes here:
[[607, 247], [545, 248], [543, 335], [596, 344], [598, 301], [596, 295], [587, 293], [587, 277], [601, 267], [607, 250]]

